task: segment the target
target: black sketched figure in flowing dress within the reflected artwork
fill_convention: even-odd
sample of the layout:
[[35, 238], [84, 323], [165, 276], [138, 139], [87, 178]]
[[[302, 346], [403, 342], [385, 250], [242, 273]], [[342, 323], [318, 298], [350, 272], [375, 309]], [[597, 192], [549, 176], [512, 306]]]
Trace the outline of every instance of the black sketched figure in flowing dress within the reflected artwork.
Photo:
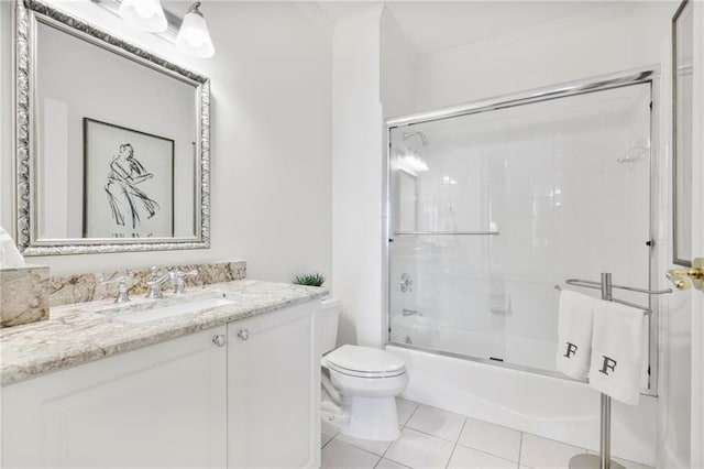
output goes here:
[[145, 214], [147, 219], [156, 214], [160, 209], [158, 204], [138, 187], [152, 177], [154, 174], [148, 173], [134, 157], [132, 145], [121, 144], [119, 153], [110, 162], [108, 184], [105, 187], [116, 223], [124, 226], [125, 217], [129, 216], [134, 229], [140, 225], [141, 212]]

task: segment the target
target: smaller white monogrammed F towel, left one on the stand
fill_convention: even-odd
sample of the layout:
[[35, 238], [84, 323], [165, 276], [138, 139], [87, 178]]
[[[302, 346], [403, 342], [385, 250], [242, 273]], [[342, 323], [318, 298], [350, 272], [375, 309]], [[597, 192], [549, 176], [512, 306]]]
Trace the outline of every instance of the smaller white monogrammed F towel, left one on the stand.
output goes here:
[[593, 312], [598, 302], [569, 290], [560, 292], [556, 364], [568, 377], [586, 378], [592, 352]]

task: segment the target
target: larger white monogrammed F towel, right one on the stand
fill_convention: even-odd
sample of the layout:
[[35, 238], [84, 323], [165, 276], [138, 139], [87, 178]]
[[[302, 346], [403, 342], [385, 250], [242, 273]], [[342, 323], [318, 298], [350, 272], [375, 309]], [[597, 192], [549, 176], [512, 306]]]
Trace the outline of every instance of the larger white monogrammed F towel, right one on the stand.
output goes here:
[[612, 397], [638, 405], [644, 360], [641, 309], [600, 302], [594, 312], [590, 384]]

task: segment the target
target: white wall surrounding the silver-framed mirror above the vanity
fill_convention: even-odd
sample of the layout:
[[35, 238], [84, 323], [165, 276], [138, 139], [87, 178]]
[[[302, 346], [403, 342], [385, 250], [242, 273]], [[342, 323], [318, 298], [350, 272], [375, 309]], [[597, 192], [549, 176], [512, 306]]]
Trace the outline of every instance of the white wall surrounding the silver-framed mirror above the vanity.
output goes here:
[[[183, 9], [188, 3], [184, 3]], [[211, 78], [210, 250], [34, 258], [53, 273], [244, 259], [249, 276], [331, 271], [330, 34], [290, 2], [207, 2], [216, 56], [189, 58], [89, 2], [62, 8]], [[11, 228], [11, 3], [0, 6], [2, 203]]]

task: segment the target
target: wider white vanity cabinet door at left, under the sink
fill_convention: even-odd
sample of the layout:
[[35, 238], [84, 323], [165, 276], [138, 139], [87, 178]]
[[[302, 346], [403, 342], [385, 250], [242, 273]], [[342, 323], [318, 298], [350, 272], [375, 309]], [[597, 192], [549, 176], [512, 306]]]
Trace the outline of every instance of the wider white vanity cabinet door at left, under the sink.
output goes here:
[[[2, 389], [3, 468], [222, 468], [224, 326]], [[224, 338], [224, 336], [223, 336]]]

